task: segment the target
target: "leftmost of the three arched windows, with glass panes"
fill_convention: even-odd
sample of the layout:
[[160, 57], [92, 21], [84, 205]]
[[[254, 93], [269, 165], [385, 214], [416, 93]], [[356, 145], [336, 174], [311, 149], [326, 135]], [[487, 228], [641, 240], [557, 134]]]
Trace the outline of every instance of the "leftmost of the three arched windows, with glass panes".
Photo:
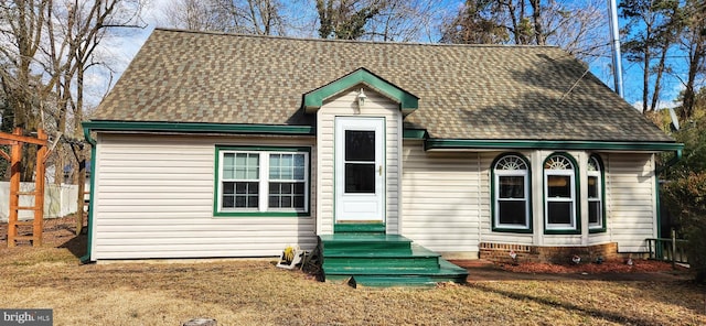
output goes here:
[[517, 154], [500, 156], [493, 164], [493, 230], [532, 232], [530, 164]]

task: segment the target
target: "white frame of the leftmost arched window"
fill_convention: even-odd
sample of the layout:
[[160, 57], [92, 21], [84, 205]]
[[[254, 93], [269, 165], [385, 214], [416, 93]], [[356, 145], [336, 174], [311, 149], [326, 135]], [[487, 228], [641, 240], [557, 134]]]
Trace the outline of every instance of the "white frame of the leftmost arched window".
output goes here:
[[[516, 159], [522, 162], [525, 169], [516, 169], [516, 170], [501, 170], [498, 169], [503, 160], [506, 159]], [[515, 154], [505, 154], [502, 155], [495, 164], [493, 164], [493, 174], [494, 174], [494, 189], [493, 189], [493, 205], [494, 205], [494, 226], [498, 229], [511, 229], [511, 230], [530, 230], [532, 229], [531, 218], [530, 218], [530, 165], [523, 160], [521, 156]], [[501, 176], [522, 176], [523, 177], [523, 186], [524, 186], [524, 198], [500, 198], [500, 177]], [[500, 222], [500, 203], [501, 202], [524, 202], [525, 203], [525, 224], [524, 225], [515, 225], [515, 224], [501, 224]]]

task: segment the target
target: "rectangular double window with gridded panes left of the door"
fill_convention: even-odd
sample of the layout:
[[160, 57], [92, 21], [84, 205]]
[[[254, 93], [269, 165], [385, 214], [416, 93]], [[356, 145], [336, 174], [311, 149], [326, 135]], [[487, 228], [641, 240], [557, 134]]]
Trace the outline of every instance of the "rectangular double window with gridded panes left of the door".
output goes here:
[[215, 215], [309, 211], [309, 149], [217, 148]]

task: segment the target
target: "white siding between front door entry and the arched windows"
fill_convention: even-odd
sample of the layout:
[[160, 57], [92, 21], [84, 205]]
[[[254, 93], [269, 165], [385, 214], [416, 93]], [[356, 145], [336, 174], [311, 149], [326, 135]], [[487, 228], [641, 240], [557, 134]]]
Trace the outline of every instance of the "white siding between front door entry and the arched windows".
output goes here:
[[443, 253], [478, 252], [480, 221], [490, 222], [479, 154], [428, 153], [421, 141], [405, 141], [403, 152], [403, 235]]

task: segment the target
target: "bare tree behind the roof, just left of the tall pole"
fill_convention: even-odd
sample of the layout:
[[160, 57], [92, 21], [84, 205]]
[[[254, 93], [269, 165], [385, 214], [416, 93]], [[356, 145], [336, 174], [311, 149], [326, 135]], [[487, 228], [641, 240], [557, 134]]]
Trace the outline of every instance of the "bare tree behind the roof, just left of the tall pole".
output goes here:
[[557, 45], [579, 58], [608, 46], [600, 0], [468, 0], [442, 25], [445, 43]]

